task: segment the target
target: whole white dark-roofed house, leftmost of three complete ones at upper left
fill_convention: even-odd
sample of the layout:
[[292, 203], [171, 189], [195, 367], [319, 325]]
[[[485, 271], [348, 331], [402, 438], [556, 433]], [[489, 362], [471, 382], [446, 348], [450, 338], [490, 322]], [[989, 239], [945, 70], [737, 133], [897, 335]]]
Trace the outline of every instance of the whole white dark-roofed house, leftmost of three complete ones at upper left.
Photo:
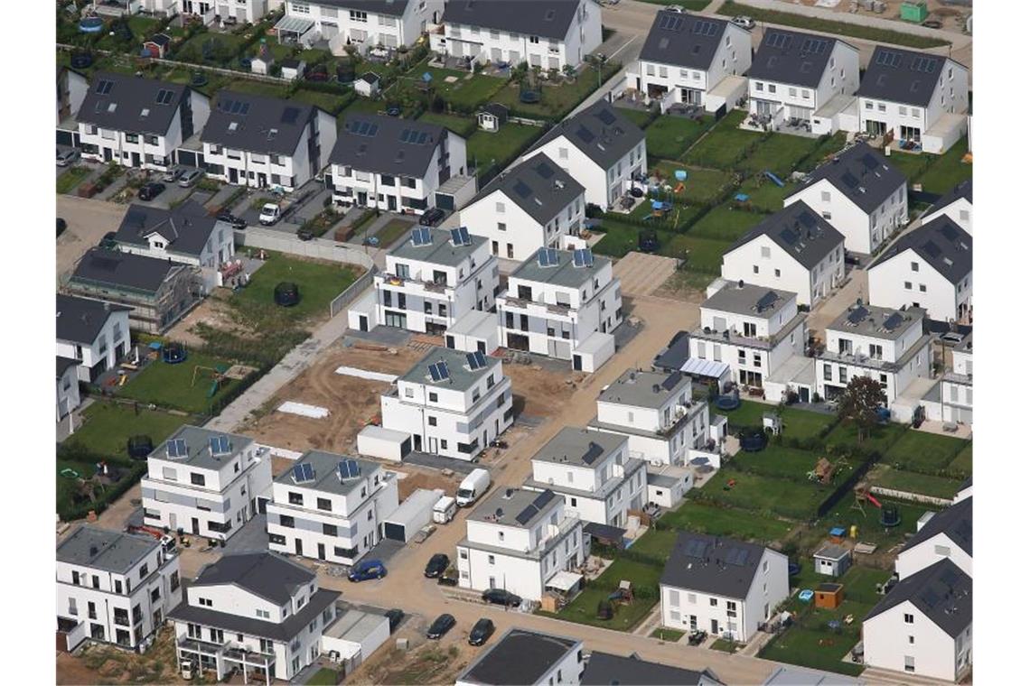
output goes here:
[[78, 108], [79, 148], [87, 159], [166, 170], [210, 110], [206, 96], [181, 83], [99, 72]]

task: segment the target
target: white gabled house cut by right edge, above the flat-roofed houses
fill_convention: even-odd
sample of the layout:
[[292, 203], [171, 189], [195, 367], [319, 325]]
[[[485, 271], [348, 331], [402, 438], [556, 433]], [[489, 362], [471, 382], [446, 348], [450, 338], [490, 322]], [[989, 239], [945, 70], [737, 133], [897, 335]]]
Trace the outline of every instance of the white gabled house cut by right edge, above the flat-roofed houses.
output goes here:
[[869, 265], [869, 302], [972, 322], [972, 237], [947, 214], [902, 233]]

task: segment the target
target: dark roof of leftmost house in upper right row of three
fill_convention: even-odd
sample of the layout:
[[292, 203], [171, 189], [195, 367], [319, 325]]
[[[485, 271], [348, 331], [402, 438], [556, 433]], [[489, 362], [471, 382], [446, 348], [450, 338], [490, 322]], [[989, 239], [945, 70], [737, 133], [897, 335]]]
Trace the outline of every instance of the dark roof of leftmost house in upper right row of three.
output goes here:
[[640, 59], [707, 71], [729, 26], [715, 16], [663, 9], [654, 16]]

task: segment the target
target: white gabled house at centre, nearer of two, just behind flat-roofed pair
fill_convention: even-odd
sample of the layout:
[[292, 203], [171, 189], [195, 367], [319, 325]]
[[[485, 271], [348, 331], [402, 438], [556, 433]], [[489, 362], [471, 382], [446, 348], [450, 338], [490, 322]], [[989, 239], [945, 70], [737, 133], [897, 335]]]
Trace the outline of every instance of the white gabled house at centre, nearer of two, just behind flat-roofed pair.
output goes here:
[[497, 257], [522, 261], [540, 248], [563, 248], [586, 219], [585, 188], [545, 154], [523, 159], [487, 183], [461, 209], [461, 224], [490, 241]]

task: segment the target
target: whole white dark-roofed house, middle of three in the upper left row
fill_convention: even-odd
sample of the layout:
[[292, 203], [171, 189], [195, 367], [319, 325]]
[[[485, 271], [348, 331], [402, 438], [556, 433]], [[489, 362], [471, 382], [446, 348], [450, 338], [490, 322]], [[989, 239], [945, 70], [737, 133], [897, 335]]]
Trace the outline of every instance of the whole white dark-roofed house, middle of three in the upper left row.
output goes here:
[[329, 164], [336, 119], [295, 100], [220, 91], [200, 140], [209, 177], [288, 192]]

